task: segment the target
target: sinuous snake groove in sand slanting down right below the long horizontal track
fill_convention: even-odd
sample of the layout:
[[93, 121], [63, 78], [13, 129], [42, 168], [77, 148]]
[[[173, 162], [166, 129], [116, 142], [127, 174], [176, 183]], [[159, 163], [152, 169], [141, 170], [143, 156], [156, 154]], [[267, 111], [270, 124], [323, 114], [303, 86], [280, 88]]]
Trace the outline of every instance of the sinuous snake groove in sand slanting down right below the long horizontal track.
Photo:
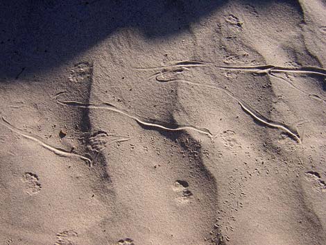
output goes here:
[[[159, 80], [157, 80], [157, 81], [159, 81]], [[162, 81], [160, 81], [160, 82], [162, 83]], [[286, 133], [291, 135], [291, 137], [293, 137], [296, 141], [298, 141], [298, 143], [301, 143], [300, 135], [298, 133], [297, 128], [295, 128], [294, 126], [289, 126], [289, 125], [282, 124], [282, 123], [277, 122], [277, 121], [272, 121], [270, 119], [267, 119], [266, 117], [261, 115], [259, 112], [252, 109], [250, 107], [250, 105], [248, 105], [247, 103], [245, 103], [241, 99], [237, 98], [236, 96], [234, 96], [234, 94], [232, 94], [232, 92], [230, 92], [229, 90], [227, 90], [227, 89], [225, 89], [223, 87], [216, 87], [214, 85], [204, 85], [204, 84], [194, 83], [194, 82], [187, 81], [187, 80], [182, 80], [182, 79], [173, 79], [173, 80], [164, 81], [164, 82], [165, 83], [180, 82], [180, 83], [187, 83], [189, 85], [197, 85], [197, 86], [200, 86], [200, 87], [208, 87], [208, 88], [213, 88], [215, 90], [221, 90], [221, 91], [225, 92], [225, 94], [228, 94], [228, 96], [232, 97], [232, 99], [236, 100], [239, 103], [239, 105], [241, 105], [241, 108], [245, 112], [247, 112], [252, 118], [259, 121], [261, 124], [265, 124], [266, 126], [269, 126], [269, 127], [272, 127], [272, 128], [279, 128], [281, 130], [284, 130]]]

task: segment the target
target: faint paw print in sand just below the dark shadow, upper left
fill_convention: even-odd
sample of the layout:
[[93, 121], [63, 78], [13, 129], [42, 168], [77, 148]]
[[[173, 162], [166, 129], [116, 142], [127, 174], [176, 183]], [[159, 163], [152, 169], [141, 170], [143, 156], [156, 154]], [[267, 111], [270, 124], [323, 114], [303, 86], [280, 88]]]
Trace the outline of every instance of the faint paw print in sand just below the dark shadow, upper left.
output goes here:
[[70, 71], [69, 81], [84, 83], [92, 79], [93, 65], [89, 62], [80, 62]]

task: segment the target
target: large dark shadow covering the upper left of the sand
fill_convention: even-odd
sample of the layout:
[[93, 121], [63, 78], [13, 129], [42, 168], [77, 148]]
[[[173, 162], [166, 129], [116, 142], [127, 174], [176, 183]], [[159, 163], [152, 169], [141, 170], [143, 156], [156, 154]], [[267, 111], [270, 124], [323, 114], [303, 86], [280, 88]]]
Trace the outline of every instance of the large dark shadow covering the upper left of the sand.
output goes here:
[[3, 1], [0, 82], [58, 67], [120, 28], [175, 35], [228, 0]]

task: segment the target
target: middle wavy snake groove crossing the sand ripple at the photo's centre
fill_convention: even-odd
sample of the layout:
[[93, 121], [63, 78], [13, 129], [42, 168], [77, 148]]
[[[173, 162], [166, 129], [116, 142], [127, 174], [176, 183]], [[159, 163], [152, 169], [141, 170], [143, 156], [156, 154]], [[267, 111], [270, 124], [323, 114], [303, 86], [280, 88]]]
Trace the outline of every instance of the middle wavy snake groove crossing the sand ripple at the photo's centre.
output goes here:
[[142, 126], [147, 126], [147, 127], [153, 127], [153, 128], [160, 128], [162, 130], [167, 130], [167, 131], [181, 131], [181, 130], [187, 130], [191, 129], [194, 131], [197, 131], [198, 133], [203, 133], [210, 138], [213, 137], [212, 133], [209, 132], [207, 128], [197, 128], [196, 126], [178, 126], [177, 128], [168, 128], [166, 126], [162, 126], [160, 124], [152, 124], [146, 121], [142, 121], [138, 117], [135, 117], [133, 115], [128, 114], [128, 112], [124, 112], [123, 110], [119, 110], [116, 108], [114, 105], [111, 105], [110, 103], [103, 102], [101, 104], [85, 104], [85, 103], [79, 103], [76, 101], [57, 101], [61, 105], [68, 105], [68, 106], [76, 106], [79, 108], [91, 108], [91, 109], [100, 109], [100, 110], [111, 110], [112, 112], [117, 112], [121, 115], [124, 115], [126, 117], [129, 117], [130, 119], [133, 119], [137, 121], [138, 124]]

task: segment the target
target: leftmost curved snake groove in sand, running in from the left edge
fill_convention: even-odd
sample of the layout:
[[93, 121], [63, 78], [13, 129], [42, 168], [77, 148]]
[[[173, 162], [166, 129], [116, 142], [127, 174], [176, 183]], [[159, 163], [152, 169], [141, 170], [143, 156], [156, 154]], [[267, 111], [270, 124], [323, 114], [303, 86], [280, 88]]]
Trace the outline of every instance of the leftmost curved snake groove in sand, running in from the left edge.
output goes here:
[[72, 152], [69, 152], [69, 151], [65, 151], [63, 149], [58, 149], [58, 148], [55, 148], [53, 146], [50, 146], [49, 144], [44, 143], [37, 136], [34, 136], [31, 133], [24, 132], [23, 130], [20, 130], [19, 128], [16, 128], [15, 126], [12, 126], [12, 124], [10, 124], [3, 117], [2, 117], [2, 121], [0, 121], [0, 124], [2, 124], [3, 126], [6, 126], [7, 128], [9, 128], [10, 130], [14, 131], [17, 134], [22, 135], [23, 137], [25, 137], [28, 140], [33, 140], [34, 142], [37, 142], [37, 144], [40, 144], [40, 146], [42, 146], [43, 148], [45, 148], [45, 149], [47, 149], [49, 151], [52, 151], [56, 155], [60, 155], [62, 157], [69, 157], [69, 158], [80, 158], [80, 159], [85, 160], [86, 162], [88, 162], [89, 165], [92, 164], [92, 160], [90, 160], [89, 158], [86, 158], [83, 155], [78, 155], [76, 153], [72, 153]]

